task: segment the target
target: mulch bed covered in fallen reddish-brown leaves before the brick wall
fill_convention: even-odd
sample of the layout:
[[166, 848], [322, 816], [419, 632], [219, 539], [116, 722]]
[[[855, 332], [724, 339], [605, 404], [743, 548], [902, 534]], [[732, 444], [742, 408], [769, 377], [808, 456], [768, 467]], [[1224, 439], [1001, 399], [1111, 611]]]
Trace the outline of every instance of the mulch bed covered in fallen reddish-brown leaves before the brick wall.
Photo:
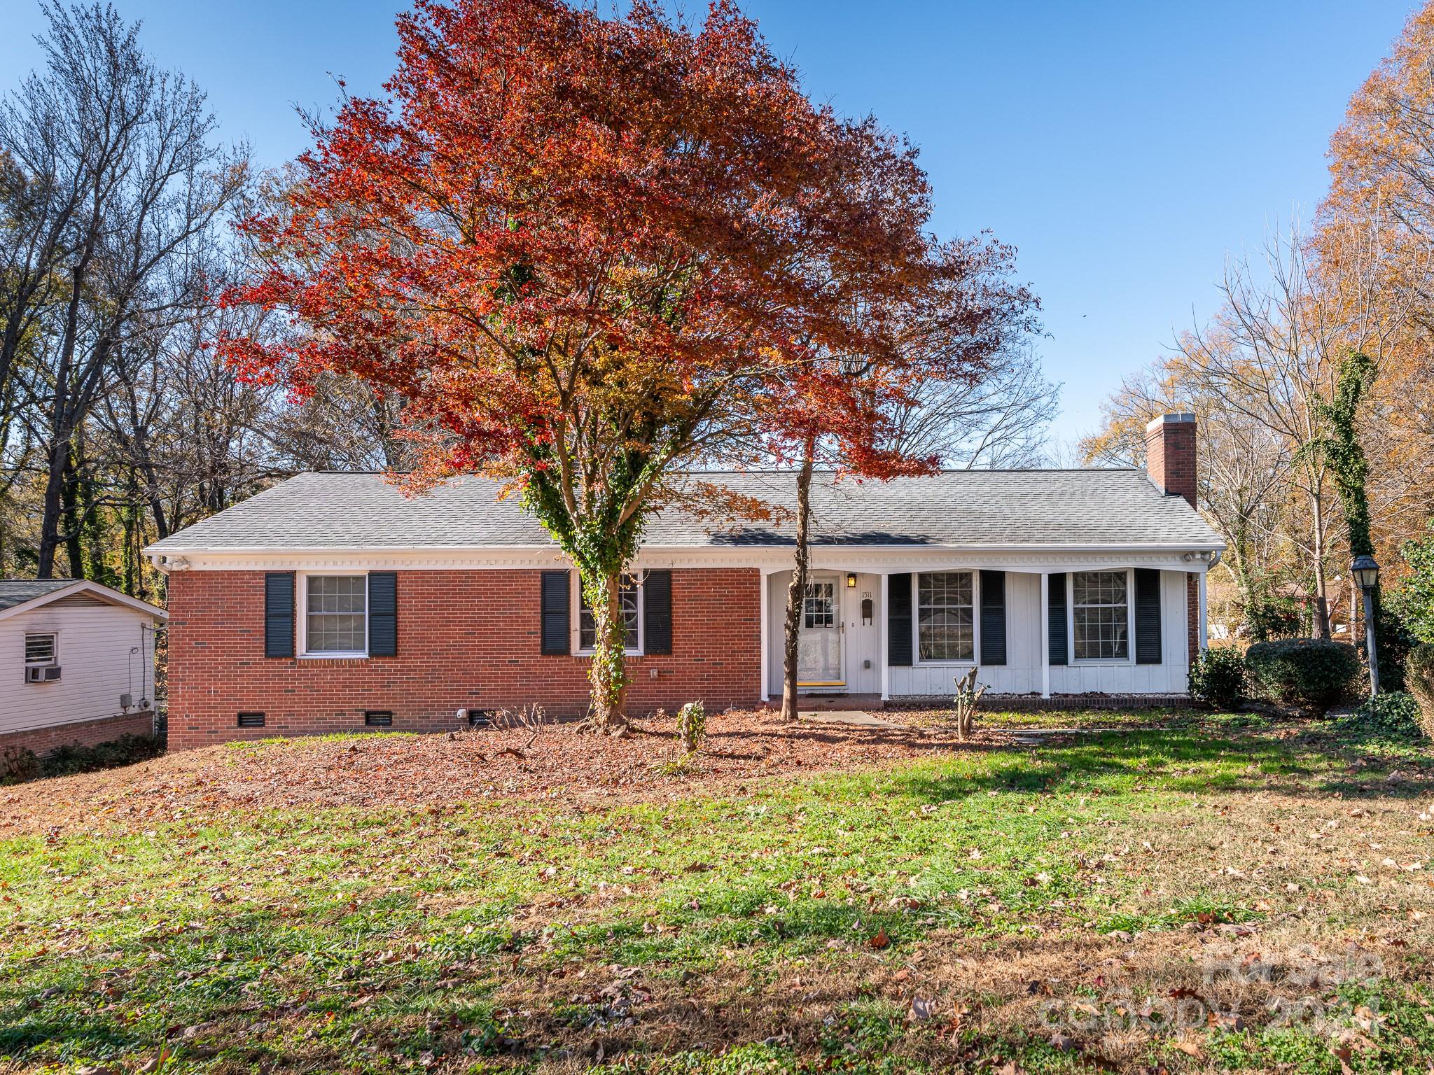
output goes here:
[[103, 774], [0, 788], [0, 837], [133, 827], [176, 813], [262, 806], [443, 806], [483, 797], [664, 800], [694, 784], [850, 770], [954, 750], [1010, 745], [1002, 731], [965, 742], [944, 727], [784, 722], [776, 711], [724, 712], [703, 751], [683, 760], [671, 718], [611, 738], [562, 724], [452, 735], [370, 734], [265, 740], [178, 751]]

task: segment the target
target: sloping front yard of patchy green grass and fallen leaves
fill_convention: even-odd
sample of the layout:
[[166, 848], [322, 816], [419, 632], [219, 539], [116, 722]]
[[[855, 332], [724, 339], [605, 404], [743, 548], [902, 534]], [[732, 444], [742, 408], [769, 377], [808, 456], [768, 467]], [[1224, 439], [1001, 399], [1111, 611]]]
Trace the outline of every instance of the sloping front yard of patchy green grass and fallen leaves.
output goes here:
[[599, 794], [519, 780], [559, 732], [482, 791], [435, 761], [482, 732], [0, 788], [0, 1071], [1434, 1069], [1424, 750], [1041, 717]]

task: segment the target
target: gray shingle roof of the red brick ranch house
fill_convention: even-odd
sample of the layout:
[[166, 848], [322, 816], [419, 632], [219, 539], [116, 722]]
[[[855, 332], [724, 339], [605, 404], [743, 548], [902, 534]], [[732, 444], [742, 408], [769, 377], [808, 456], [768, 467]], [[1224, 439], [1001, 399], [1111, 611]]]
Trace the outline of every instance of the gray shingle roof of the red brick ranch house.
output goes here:
[[[671, 507], [644, 533], [650, 548], [793, 543], [790, 472], [697, 473], [771, 505], [776, 517], [723, 522]], [[551, 538], [499, 484], [459, 477], [404, 497], [381, 474], [298, 474], [151, 546], [221, 549], [541, 548]], [[929, 477], [812, 483], [815, 545], [1220, 548], [1215, 530], [1143, 470], [948, 470]]]

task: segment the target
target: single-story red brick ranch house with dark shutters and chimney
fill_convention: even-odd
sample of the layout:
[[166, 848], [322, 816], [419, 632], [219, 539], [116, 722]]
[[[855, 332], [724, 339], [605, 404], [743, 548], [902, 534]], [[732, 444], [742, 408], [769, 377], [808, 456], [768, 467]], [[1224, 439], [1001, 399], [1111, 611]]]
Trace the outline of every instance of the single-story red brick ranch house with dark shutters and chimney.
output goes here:
[[[1149, 473], [819, 474], [802, 689], [949, 697], [977, 665], [988, 695], [1182, 697], [1223, 545], [1195, 510], [1193, 416], [1147, 436]], [[790, 473], [703, 477], [796, 502]], [[631, 712], [780, 697], [792, 530], [650, 523], [622, 595]], [[381, 474], [300, 474], [148, 552], [169, 575], [172, 747], [587, 708], [576, 572], [488, 479], [406, 499]]]

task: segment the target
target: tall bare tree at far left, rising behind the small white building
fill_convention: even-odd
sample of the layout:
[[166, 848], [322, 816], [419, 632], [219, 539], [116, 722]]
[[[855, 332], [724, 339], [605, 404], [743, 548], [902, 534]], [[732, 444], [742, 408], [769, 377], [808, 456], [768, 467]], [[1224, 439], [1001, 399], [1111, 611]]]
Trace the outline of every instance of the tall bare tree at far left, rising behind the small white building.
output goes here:
[[40, 578], [53, 575], [56, 549], [73, 538], [73, 519], [65, 522], [73, 446], [116, 351], [136, 325], [202, 292], [196, 251], [248, 181], [245, 150], [214, 142], [204, 93], [143, 54], [138, 26], [98, 3], [52, 0], [44, 13], [46, 67], [9, 103], [4, 128], [11, 156], [11, 142], [53, 146], [52, 175], [34, 186], [49, 204], [33, 215], [63, 236], [29, 330], [44, 480]]

